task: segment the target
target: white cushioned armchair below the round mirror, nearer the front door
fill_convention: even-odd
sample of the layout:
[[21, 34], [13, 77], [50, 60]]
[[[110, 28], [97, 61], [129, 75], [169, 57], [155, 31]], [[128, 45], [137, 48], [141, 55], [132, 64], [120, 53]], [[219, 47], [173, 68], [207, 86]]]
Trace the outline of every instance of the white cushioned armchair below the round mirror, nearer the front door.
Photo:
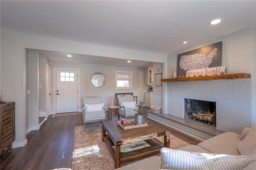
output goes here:
[[102, 97], [83, 97], [83, 124], [106, 120], [106, 107]]

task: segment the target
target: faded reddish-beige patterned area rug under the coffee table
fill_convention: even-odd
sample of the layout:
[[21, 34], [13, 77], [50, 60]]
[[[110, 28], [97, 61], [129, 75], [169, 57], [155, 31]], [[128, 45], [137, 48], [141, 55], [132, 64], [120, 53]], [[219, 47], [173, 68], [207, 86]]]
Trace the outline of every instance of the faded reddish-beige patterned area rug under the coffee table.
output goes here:
[[[163, 141], [163, 138], [158, 138]], [[170, 148], [177, 149], [182, 146], [190, 145], [188, 142], [170, 134]], [[127, 147], [127, 146], [126, 146]], [[122, 147], [121, 147], [122, 150]], [[150, 156], [159, 156], [155, 153]], [[137, 162], [146, 157], [136, 160], [122, 162], [121, 166]], [[102, 124], [86, 125], [84, 132], [83, 126], [74, 128], [74, 152], [73, 170], [113, 170], [114, 160], [108, 151], [105, 142], [102, 142]]]

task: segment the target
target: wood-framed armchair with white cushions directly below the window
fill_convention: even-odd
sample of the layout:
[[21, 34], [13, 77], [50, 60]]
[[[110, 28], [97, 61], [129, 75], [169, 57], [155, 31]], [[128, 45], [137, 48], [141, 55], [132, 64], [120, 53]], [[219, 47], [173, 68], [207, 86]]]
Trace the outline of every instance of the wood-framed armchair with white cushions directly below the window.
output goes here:
[[117, 105], [120, 107], [119, 114], [126, 119], [127, 117], [135, 117], [137, 109], [137, 96], [133, 93], [116, 93]]

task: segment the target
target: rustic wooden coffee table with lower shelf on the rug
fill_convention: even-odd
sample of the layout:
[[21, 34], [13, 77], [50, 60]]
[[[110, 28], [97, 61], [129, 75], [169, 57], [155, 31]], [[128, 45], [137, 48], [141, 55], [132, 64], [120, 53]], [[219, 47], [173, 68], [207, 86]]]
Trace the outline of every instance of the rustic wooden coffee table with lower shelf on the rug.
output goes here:
[[[147, 127], [123, 130], [117, 124], [117, 121], [102, 121], [102, 141], [106, 143], [108, 150], [115, 162], [115, 168], [119, 168], [121, 162], [141, 158], [159, 152], [161, 148], [170, 147], [170, 131], [158, 127], [152, 123]], [[106, 134], [106, 132], [108, 134]], [[164, 144], [156, 137], [164, 136]], [[146, 147], [128, 152], [121, 152], [121, 146], [131, 143], [145, 141]]]

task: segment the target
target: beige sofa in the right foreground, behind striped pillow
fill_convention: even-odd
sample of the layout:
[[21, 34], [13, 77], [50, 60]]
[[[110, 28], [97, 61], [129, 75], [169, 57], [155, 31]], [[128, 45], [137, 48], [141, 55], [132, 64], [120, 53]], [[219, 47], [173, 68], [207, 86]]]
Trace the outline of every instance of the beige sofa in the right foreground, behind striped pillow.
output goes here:
[[[254, 128], [254, 129], [252, 129]], [[244, 142], [254, 142], [250, 144], [251, 146], [249, 149], [252, 149], [253, 152], [250, 150], [247, 150], [246, 152], [250, 152], [249, 156], [255, 157], [256, 160], [256, 121], [254, 122], [254, 125], [252, 128], [244, 128], [241, 135], [238, 135], [234, 132], [225, 132], [223, 134], [219, 134], [217, 136], [214, 136], [208, 140], [204, 140], [203, 142], [200, 142], [198, 145], [188, 145], [182, 148], [179, 148], [178, 151], [186, 152], [186, 153], [209, 153], [209, 154], [227, 154], [235, 157], [243, 157], [241, 155], [246, 155], [244, 152]], [[250, 133], [250, 135], [248, 135]], [[245, 138], [247, 137], [247, 141]], [[244, 140], [242, 142], [242, 140]], [[171, 142], [171, 141], [170, 141]], [[242, 142], [242, 143], [241, 143]], [[240, 154], [238, 151], [240, 149], [240, 152], [243, 154]], [[189, 151], [189, 152], [187, 152]], [[162, 151], [161, 151], [162, 152]], [[196, 154], [196, 153], [195, 153]], [[163, 153], [162, 153], [163, 155]], [[240, 156], [239, 156], [240, 155]], [[248, 154], [247, 154], [248, 155]], [[144, 160], [134, 162], [132, 164], [128, 164], [126, 166], [120, 167], [117, 170], [159, 170], [159, 169], [168, 169], [161, 167], [163, 158], [162, 156], [152, 156], [150, 158], [146, 158]], [[174, 161], [175, 162], [175, 161]], [[210, 168], [212, 169], [212, 168]], [[248, 165], [245, 166], [245, 168], [242, 168], [243, 170], [256, 170], [256, 161], [252, 161], [251, 163], [248, 163]]]

